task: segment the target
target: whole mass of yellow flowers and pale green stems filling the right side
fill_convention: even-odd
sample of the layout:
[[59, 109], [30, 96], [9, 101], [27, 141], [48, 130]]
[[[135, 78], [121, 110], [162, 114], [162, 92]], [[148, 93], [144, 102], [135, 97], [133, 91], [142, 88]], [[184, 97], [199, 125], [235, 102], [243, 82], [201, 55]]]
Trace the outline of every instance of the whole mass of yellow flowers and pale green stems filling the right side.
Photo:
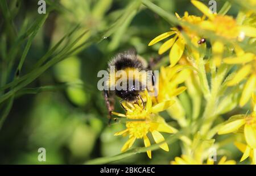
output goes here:
[[[170, 65], [160, 68], [158, 97], [149, 97], [145, 91], [146, 108], [141, 104], [126, 103], [123, 104], [126, 114], [113, 112], [132, 120], [126, 122], [124, 131], [115, 135], [129, 136], [122, 151], [129, 149], [136, 139], [143, 139], [144, 145], [150, 146], [149, 132], [155, 142], [160, 143], [159, 147], [168, 151], [168, 145], [159, 132], [176, 133], [178, 130], [168, 125], [158, 114], [166, 110], [172, 119], [177, 120], [180, 129], [191, 129], [188, 136], [180, 137], [184, 142], [183, 154], [171, 161], [171, 164], [204, 164], [204, 161], [213, 164], [213, 161], [207, 160], [208, 150], [211, 146], [221, 148], [214, 136], [231, 132], [244, 134], [242, 139], [235, 136], [234, 143], [243, 152], [241, 161], [250, 157], [255, 164], [256, 55], [251, 49], [242, 47], [243, 43], [255, 44], [255, 12], [245, 14], [251, 19], [250, 22], [238, 22], [238, 17], [234, 19], [224, 14], [213, 14], [204, 3], [195, 0], [191, 2], [203, 12], [202, 17], [189, 15], [188, 12], [183, 17], [176, 14], [179, 25], [155, 37], [148, 44], [154, 45], [171, 36], [158, 51], [162, 55], [170, 49]], [[183, 93], [191, 98], [191, 114], [186, 114], [177, 97]], [[224, 123], [216, 122], [227, 112], [234, 114], [234, 108], [243, 108], [246, 104], [248, 106], [250, 100], [253, 100], [251, 113], [233, 115]], [[189, 135], [194, 138], [190, 139]], [[210, 145], [203, 144], [209, 140], [213, 140]], [[240, 143], [240, 140], [243, 142]], [[151, 158], [151, 150], [147, 150], [147, 155]], [[218, 164], [236, 162], [226, 161], [224, 156]]]

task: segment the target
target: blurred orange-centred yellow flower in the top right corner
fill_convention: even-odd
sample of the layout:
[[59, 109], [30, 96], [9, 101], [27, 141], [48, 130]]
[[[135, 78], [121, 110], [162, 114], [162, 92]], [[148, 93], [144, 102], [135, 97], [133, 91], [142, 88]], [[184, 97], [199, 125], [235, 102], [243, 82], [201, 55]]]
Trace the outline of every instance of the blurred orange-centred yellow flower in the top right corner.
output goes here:
[[212, 14], [204, 3], [192, 0], [194, 6], [197, 7], [208, 20], [200, 23], [205, 30], [214, 31], [217, 35], [226, 37], [227, 39], [236, 39], [241, 36], [256, 37], [256, 28], [237, 24], [232, 16]]

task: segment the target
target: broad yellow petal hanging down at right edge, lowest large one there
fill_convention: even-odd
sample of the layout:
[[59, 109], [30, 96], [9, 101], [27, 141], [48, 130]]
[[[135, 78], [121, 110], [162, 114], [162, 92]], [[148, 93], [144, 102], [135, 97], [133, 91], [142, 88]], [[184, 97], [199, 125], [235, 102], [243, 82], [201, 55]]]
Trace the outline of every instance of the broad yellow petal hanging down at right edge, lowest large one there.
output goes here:
[[256, 148], [256, 128], [253, 125], [245, 125], [245, 140], [250, 148]]

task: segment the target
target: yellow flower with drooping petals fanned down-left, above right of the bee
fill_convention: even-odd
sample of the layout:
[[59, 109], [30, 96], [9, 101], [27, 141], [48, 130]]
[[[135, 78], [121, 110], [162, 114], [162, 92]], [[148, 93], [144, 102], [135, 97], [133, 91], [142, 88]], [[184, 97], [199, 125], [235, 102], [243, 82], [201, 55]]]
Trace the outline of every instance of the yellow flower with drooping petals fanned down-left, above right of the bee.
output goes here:
[[[178, 19], [189, 22], [191, 24], [199, 24], [203, 20], [199, 16], [188, 15], [188, 12], [185, 12], [182, 18], [180, 18], [178, 14], [176, 14], [176, 16]], [[187, 33], [193, 44], [198, 45], [197, 42], [200, 40], [200, 37], [198, 37], [195, 32], [192, 32], [187, 27], [181, 26], [171, 28], [171, 31], [162, 33], [161, 35], [151, 40], [148, 44], [148, 46], [154, 45], [155, 43], [158, 43], [159, 41], [174, 35], [171, 39], [164, 42], [158, 51], [159, 55], [162, 55], [164, 52], [170, 49], [169, 58], [171, 67], [177, 64], [184, 52], [186, 42], [184, 36], [181, 34], [181, 31]]]

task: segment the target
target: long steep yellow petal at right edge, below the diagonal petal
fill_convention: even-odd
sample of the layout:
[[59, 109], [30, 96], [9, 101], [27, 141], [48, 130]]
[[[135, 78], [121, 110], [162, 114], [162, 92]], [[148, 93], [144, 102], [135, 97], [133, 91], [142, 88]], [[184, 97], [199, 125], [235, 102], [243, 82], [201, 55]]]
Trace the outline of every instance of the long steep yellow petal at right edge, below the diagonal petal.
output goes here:
[[250, 78], [245, 84], [245, 87], [243, 88], [242, 96], [239, 102], [241, 107], [244, 106], [248, 102], [248, 100], [251, 98], [251, 94], [255, 89], [255, 83], [256, 83], [256, 76], [255, 74], [253, 74], [250, 76]]

